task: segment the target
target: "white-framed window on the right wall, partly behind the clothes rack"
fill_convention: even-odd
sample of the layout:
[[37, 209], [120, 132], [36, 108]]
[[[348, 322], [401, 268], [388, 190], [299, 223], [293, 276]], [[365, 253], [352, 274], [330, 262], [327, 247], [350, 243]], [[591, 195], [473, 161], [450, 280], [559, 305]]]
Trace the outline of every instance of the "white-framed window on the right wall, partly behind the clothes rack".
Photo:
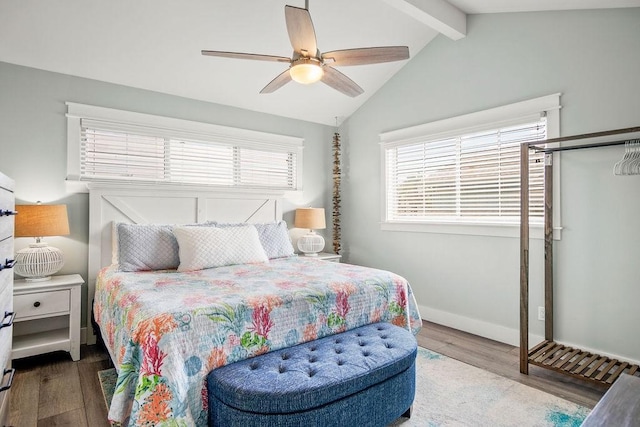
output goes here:
[[[390, 224], [518, 225], [520, 145], [546, 139], [557, 128], [559, 96], [545, 98], [556, 103], [525, 101], [521, 104], [529, 104], [529, 110], [544, 104], [525, 115], [519, 111], [523, 105], [514, 104], [383, 134], [383, 229], [403, 229]], [[488, 119], [493, 120], [484, 122]], [[452, 129], [444, 130], [445, 125]], [[541, 225], [544, 155], [532, 153], [530, 162], [530, 220]]]

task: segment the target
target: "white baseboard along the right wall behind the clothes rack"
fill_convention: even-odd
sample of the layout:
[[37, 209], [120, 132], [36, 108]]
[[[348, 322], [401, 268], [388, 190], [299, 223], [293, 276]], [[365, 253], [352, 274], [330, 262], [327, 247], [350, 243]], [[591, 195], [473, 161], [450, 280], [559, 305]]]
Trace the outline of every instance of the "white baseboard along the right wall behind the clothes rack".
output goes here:
[[[492, 339], [494, 341], [502, 342], [505, 344], [513, 345], [515, 347], [520, 346], [520, 330], [507, 328], [506, 326], [496, 325], [495, 323], [484, 322], [482, 320], [473, 319], [470, 317], [461, 316], [455, 313], [449, 313], [447, 311], [437, 310], [435, 308], [419, 305], [420, 315], [423, 320], [437, 323], [439, 325], [448, 326], [453, 329], [458, 329], [464, 332], [469, 332], [474, 335], [478, 335], [484, 338]], [[529, 347], [533, 347], [538, 343], [544, 341], [542, 335], [529, 334]], [[563, 345], [579, 348], [583, 351], [599, 354], [601, 356], [607, 356], [612, 359], [624, 360], [632, 364], [640, 364], [640, 361], [630, 359], [629, 357], [619, 356], [613, 353], [608, 353], [602, 350], [585, 347], [584, 345], [578, 345], [571, 342], [562, 340]]]

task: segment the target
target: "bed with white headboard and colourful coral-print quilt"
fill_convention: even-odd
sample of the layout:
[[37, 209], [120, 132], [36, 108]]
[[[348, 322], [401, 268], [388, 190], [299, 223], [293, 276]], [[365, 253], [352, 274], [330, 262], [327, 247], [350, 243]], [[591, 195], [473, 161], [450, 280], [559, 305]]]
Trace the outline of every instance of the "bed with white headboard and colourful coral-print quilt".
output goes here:
[[[421, 326], [411, 287], [396, 274], [267, 250], [260, 226], [278, 229], [281, 236], [285, 224], [276, 196], [93, 188], [90, 205], [90, 236], [96, 238], [90, 241], [90, 269], [96, 280], [89, 281], [89, 296], [118, 371], [111, 421], [204, 426], [205, 378], [212, 369], [378, 321], [413, 333]], [[163, 205], [189, 212], [158, 215]], [[151, 225], [126, 225], [135, 223]], [[144, 252], [118, 227], [148, 230], [157, 224], [181, 224], [169, 229], [179, 242], [177, 269], [122, 271], [136, 270], [145, 261], [139, 256], [133, 267], [114, 264], [123, 260], [122, 254], [114, 257], [114, 247], [132, 246], [130, 255]], [[165, 225], [158, 227], [166, 232]], [[215, 240], [220, 236], [230, 240]], [[243, 262], [220, 265], [226, 259], [203, 268], [211, 266], [202, 264], [202, 241], [215, 241], [207, 249], [214, 252], [227, 242], [225, 256], [260, 246], [266, 259], [236, 254]]]

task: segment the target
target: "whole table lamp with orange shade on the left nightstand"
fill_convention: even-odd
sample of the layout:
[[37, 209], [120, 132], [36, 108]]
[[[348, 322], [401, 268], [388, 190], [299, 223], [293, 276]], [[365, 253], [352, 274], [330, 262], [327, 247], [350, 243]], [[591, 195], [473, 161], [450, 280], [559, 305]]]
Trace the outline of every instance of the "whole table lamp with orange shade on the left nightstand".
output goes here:
[[62, 268], [64, 258], [60, 249], [41, 239], [69, 234], [67, 206], [16, 205], [16, 211], [15, 237], [35, 237], [36, 242], [16, 253], [15, 272], [29, 282], [49, 280]]

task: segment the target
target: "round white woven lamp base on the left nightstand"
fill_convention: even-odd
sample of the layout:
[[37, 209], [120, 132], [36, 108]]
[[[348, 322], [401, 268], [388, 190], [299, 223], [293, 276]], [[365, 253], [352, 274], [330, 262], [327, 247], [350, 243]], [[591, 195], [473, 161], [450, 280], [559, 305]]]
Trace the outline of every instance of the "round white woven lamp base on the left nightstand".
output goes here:
[[14, 271], [29, 282], [44, 282], [51, 279], [64, 265], [62, 251], [44, 242], [32, 243], [16, 253]]

